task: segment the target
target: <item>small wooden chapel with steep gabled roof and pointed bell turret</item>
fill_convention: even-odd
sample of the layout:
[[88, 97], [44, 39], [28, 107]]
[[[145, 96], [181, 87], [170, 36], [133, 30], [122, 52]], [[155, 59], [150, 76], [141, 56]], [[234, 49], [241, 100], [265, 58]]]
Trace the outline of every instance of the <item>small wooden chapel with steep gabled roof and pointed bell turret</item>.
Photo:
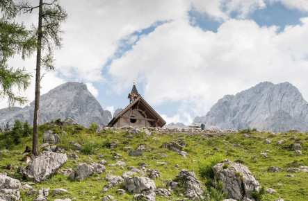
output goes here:
[[161, 128], [165, 125], [163, 118], [140, 96], [135, 82], [133, 82], [133, 89], [131, 89], [127, 98], [129, 98], [129, 105], [114, 116], [108, 126], [119, 128], [124, 125], [131, 125], [139, 128]]

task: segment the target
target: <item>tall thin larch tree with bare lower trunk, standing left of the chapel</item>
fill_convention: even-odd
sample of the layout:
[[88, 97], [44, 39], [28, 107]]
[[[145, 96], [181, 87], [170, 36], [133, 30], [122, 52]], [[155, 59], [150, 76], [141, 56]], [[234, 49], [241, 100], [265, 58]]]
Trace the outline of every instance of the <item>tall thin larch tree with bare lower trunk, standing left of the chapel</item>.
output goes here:
[[[31, 1], [32, 3], [33, 1]], [[33, 118], [33, 143], [32, 153], [38, 155], [38, 120], [40, 110], [40, 69], [54, 69], [54, 49], [60, 49], [60, 25], [67, 18], [67, 13], [58, 3], [58, 0], [39, 0], [37, 6], [30, 1], [23, 1], [20, 8], [24, 13], [31, 14], [38, 9], [38, 27], [35, 28], [36, 36], [36, 69], [35, 69], [35, 100]]]

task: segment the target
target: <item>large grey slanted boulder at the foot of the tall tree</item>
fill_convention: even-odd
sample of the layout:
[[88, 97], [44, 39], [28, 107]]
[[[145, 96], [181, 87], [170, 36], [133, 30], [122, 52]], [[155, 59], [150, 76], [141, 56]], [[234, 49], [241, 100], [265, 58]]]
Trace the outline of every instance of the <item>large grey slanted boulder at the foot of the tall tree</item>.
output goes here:
[[66, 154], [59, 154], [51, 151], [43, 152], [41, 156], [33, 159], [26, 168], [19, 168], [19, 173], [24, 175], [27, 179], [42, 182], [56, 173], [66, 162]]

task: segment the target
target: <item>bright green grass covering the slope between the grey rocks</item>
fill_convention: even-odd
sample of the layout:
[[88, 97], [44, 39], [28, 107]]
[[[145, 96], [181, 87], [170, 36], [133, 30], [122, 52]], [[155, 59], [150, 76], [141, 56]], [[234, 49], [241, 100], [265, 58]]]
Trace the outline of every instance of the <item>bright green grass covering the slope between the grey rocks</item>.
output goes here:
[[[111, 194], [116, 200], [133, 200], [133, 194], [125, 193], [118, 195], [117, 189], [124, 189], [124, 186], [116, 186], [109, 189], [108, 192], [102, 191], [104, 185], [108, 182], [104, 180], [105, 175], [110, 175], [109, 171], [114, 171], [113, 175], [122, 175], [127, 170], [127, 166], [138, 167], [140, 162], [145, 162], [149, 166], [148, 169], [157, 169], [162, 177], [154, 180], [157, 188], [165, 188], [165, 180], [175, 179], [175, 175], [183, 168], [188, 171], [194, 171], [198, 179], [204, 184], [204, 189], [209, 186], [211, 180], [209, 177], [202, 177], [202, 164], [209, 163], [209, 160], [216, 158], [227, 158], [236, 161], [248, 167], [252, 174], [257, 178], [260, 185], [264, 189], [272, 188], [277, 193], [262, 195], [261, 200], [275, 200], [282, 198], [284, 200], [308, 200], [308, 173], [299, 171], [298, 173], [287, 173], [289, 167], [297, 168], [298, 166], [308, 166], [308, 134], [307, 133], [279, 133], [271, 132], [252, 132], [249, 138], [243, 137], [244, 133], [238, 134], [181, 134], [181, 133], [155, 133], [152, 136], [145, 137], [144, 132], [133, 135], [133, 138], [127, 137], [127, 132], [123, 130], [108, 130], [99, 134], [95, 133], [95, 125], [88, 128], [82, 126], [65, 126], [63, 130], [59, 127], [40, 125], [39, 144], [42, 143], [42, 134], [47, 130], [54, 130], [60, 136], [61, 142], [57, 146], [64, 148], [66, 152], [76, 152], [76, 147], [70, 145], [70, 141], [81, 144], [82, 150], [77, 153], [79, 159], [71, 159], [63, 168], [73, 168], [81, 163], [88, 163], [105, 159], [108, 164], [115, 164], [119, 159], [126, 163], [124, 170], [118, 166], [106, 165], [106, 173], [99, 175], [95, 173], [86, 180], [74, 181], [69, 177], [56, 173], [49, 180], [42, 183], [36, 183], [33, 189], [40, 187], [51, 190], [56, 188], [67, 189], [69, 193], [62, 193], [54, 196], [52, 191], [49, 193], [49, 200], [56, 198], [76, 198], [77, 200], [102, 200], [104, 195]], [[292, 139], [297, 137], [296, 139]], [[177, 152], [162, 148], [165, 142], [183, 139], [187, 146], [184, 151], [188, 152], [188, 157], [184, 158]], [[264, 141], [271, 139], [272, 143], [266, 144]], [[277, 141], [284, 139], [282, 144]], [[17, 145], [8, 144], [8, 134], [0, 134], [0, 150], [9, 148], [8, 154], [0, 154], [0, 172], [6, 172], [10, 177], [15, 177], [21, 182], [22, 177], [17, 174], [19, 166], [24, 167], [26, 164], [20, 161], [24, 155], [24, 148], [31, 146], [31, 137], [23, 137]], [[112, 141], [117, 142], [116, 148], [108, 148]], [[291, 146], [294, 142], [302, 144], [302, 155], [295, 154]], [[145, 152], [142, 156], [131, 157], [128, 155], [127, 146], [136, 149], [139, 145], [145, 145]], [[260, 154], [266, 153], [268, 157]], [[120, 158], [115, 159], [115, 155], [119, 154]], [[257, 159], [255, 158], [257, 157]], [[167, 164], [159, 164], [158, 162], [166, 162]], [[6, 166], [13, 165], [13, 170], [6, 170]], [[282, 172], [272, 173], [268, 171], [270, 166], [279, 166]], [[63, 169], [61, 168], [61, 169]], [[295, 177], [286, 177], [286, 174], [295, 175]], [[206, 176], [206, 175], [205, 175]], [[26, 190], [28, 191], [28, 190]], [[181, 196], [183, 189], [172, 191], [172, 197], [162, 198], [156, 196], [156, 200], [172, 200], [174, 198], [184, 198]], [[21, 190], [22, 200], [33, 200], [35, 195], [26, 195]]]

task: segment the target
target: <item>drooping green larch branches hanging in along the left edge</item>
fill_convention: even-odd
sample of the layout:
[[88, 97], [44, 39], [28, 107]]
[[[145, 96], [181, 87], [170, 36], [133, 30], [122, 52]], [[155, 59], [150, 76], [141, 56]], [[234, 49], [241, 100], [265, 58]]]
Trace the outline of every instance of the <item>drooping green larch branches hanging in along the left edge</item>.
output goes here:
[[0, 1], [0, 99], [7, 97], [9, 107], [26, 102], [26, 98], [15, 95], [13, 89], [17, 87], [18, 91], [22, 91], [29, 87], [31, 74], [24, 68], [10, 67], [8, 60], [16, 54], [25, 59], [36, 46], [31, 31], [26, 30], [24, 24], [14, 21], [18, 11], [18, 5], [13, 0]]

